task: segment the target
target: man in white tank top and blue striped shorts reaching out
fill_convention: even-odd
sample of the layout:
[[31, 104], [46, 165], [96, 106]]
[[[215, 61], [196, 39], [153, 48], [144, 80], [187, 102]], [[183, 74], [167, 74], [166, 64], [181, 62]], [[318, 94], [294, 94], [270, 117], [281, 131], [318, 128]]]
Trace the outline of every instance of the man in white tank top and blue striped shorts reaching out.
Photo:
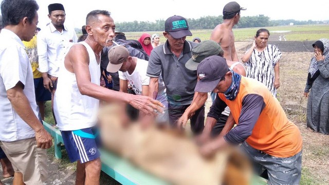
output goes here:
[[86, 40], [70, 48], [60, 68], [54, 114], [70, 161], [78, 161], [76, 184], [99, 184], [101, 160], [96, 131], [99, 100], [129, 103], [146, 114], [162, 112], [162, 104], [148, 96], [101, 87], [101, 51], [113, 44], [115, 36], [110, 13], [106, 10], [89, 12], [86, 31]]

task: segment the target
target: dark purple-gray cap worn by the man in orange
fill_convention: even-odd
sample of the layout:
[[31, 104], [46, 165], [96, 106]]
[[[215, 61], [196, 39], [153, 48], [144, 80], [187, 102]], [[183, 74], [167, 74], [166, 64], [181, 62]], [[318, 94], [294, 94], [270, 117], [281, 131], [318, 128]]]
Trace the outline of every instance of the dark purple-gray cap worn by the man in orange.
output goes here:
[[194, 91], [200, 93], [213, 91], [228, 71], [230, 68], [223, 57], [217, 55], [207, 57], [197, 66], [196, 72], [199, 80]]

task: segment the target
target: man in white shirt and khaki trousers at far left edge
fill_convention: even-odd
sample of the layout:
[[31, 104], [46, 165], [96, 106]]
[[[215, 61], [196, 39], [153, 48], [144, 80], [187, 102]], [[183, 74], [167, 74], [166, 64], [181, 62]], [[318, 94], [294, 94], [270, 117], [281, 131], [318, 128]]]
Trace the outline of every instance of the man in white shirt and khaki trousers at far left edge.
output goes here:
[[43, 184], [46, 150], [52, 145], [36, 105], [32, 67], [22, 41], [30, 41], [38, 24], [33, 0], [4, 0], [0, 33], [0, 146], [14, 169], [13, 184]]

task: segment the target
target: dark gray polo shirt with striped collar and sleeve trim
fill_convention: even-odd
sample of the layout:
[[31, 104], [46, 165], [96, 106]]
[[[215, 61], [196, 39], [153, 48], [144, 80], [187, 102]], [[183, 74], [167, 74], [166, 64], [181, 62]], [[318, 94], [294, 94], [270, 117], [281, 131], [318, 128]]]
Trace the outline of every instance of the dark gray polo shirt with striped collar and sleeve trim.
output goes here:
[[191, 50], [196, 45], [196, 43], [185, 41], [179, 58], [171, 52], [168, 41], [151, 52], [147, 76], [162, 76], [170, 104], [189, 105], [193, 100], [197, 81], [196, 70], [187, 69], [185, 63], [192, 57]]

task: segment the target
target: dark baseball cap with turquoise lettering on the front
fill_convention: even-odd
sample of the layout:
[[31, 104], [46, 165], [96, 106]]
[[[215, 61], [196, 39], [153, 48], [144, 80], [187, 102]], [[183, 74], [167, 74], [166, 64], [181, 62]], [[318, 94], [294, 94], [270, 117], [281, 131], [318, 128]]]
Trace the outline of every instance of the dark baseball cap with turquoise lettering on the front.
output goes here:
[[165, 22], [165, 31], [175, 39], [184, 38], [184, 36], [192, 36], [186, 18], [179, 15], [167, 18]]

